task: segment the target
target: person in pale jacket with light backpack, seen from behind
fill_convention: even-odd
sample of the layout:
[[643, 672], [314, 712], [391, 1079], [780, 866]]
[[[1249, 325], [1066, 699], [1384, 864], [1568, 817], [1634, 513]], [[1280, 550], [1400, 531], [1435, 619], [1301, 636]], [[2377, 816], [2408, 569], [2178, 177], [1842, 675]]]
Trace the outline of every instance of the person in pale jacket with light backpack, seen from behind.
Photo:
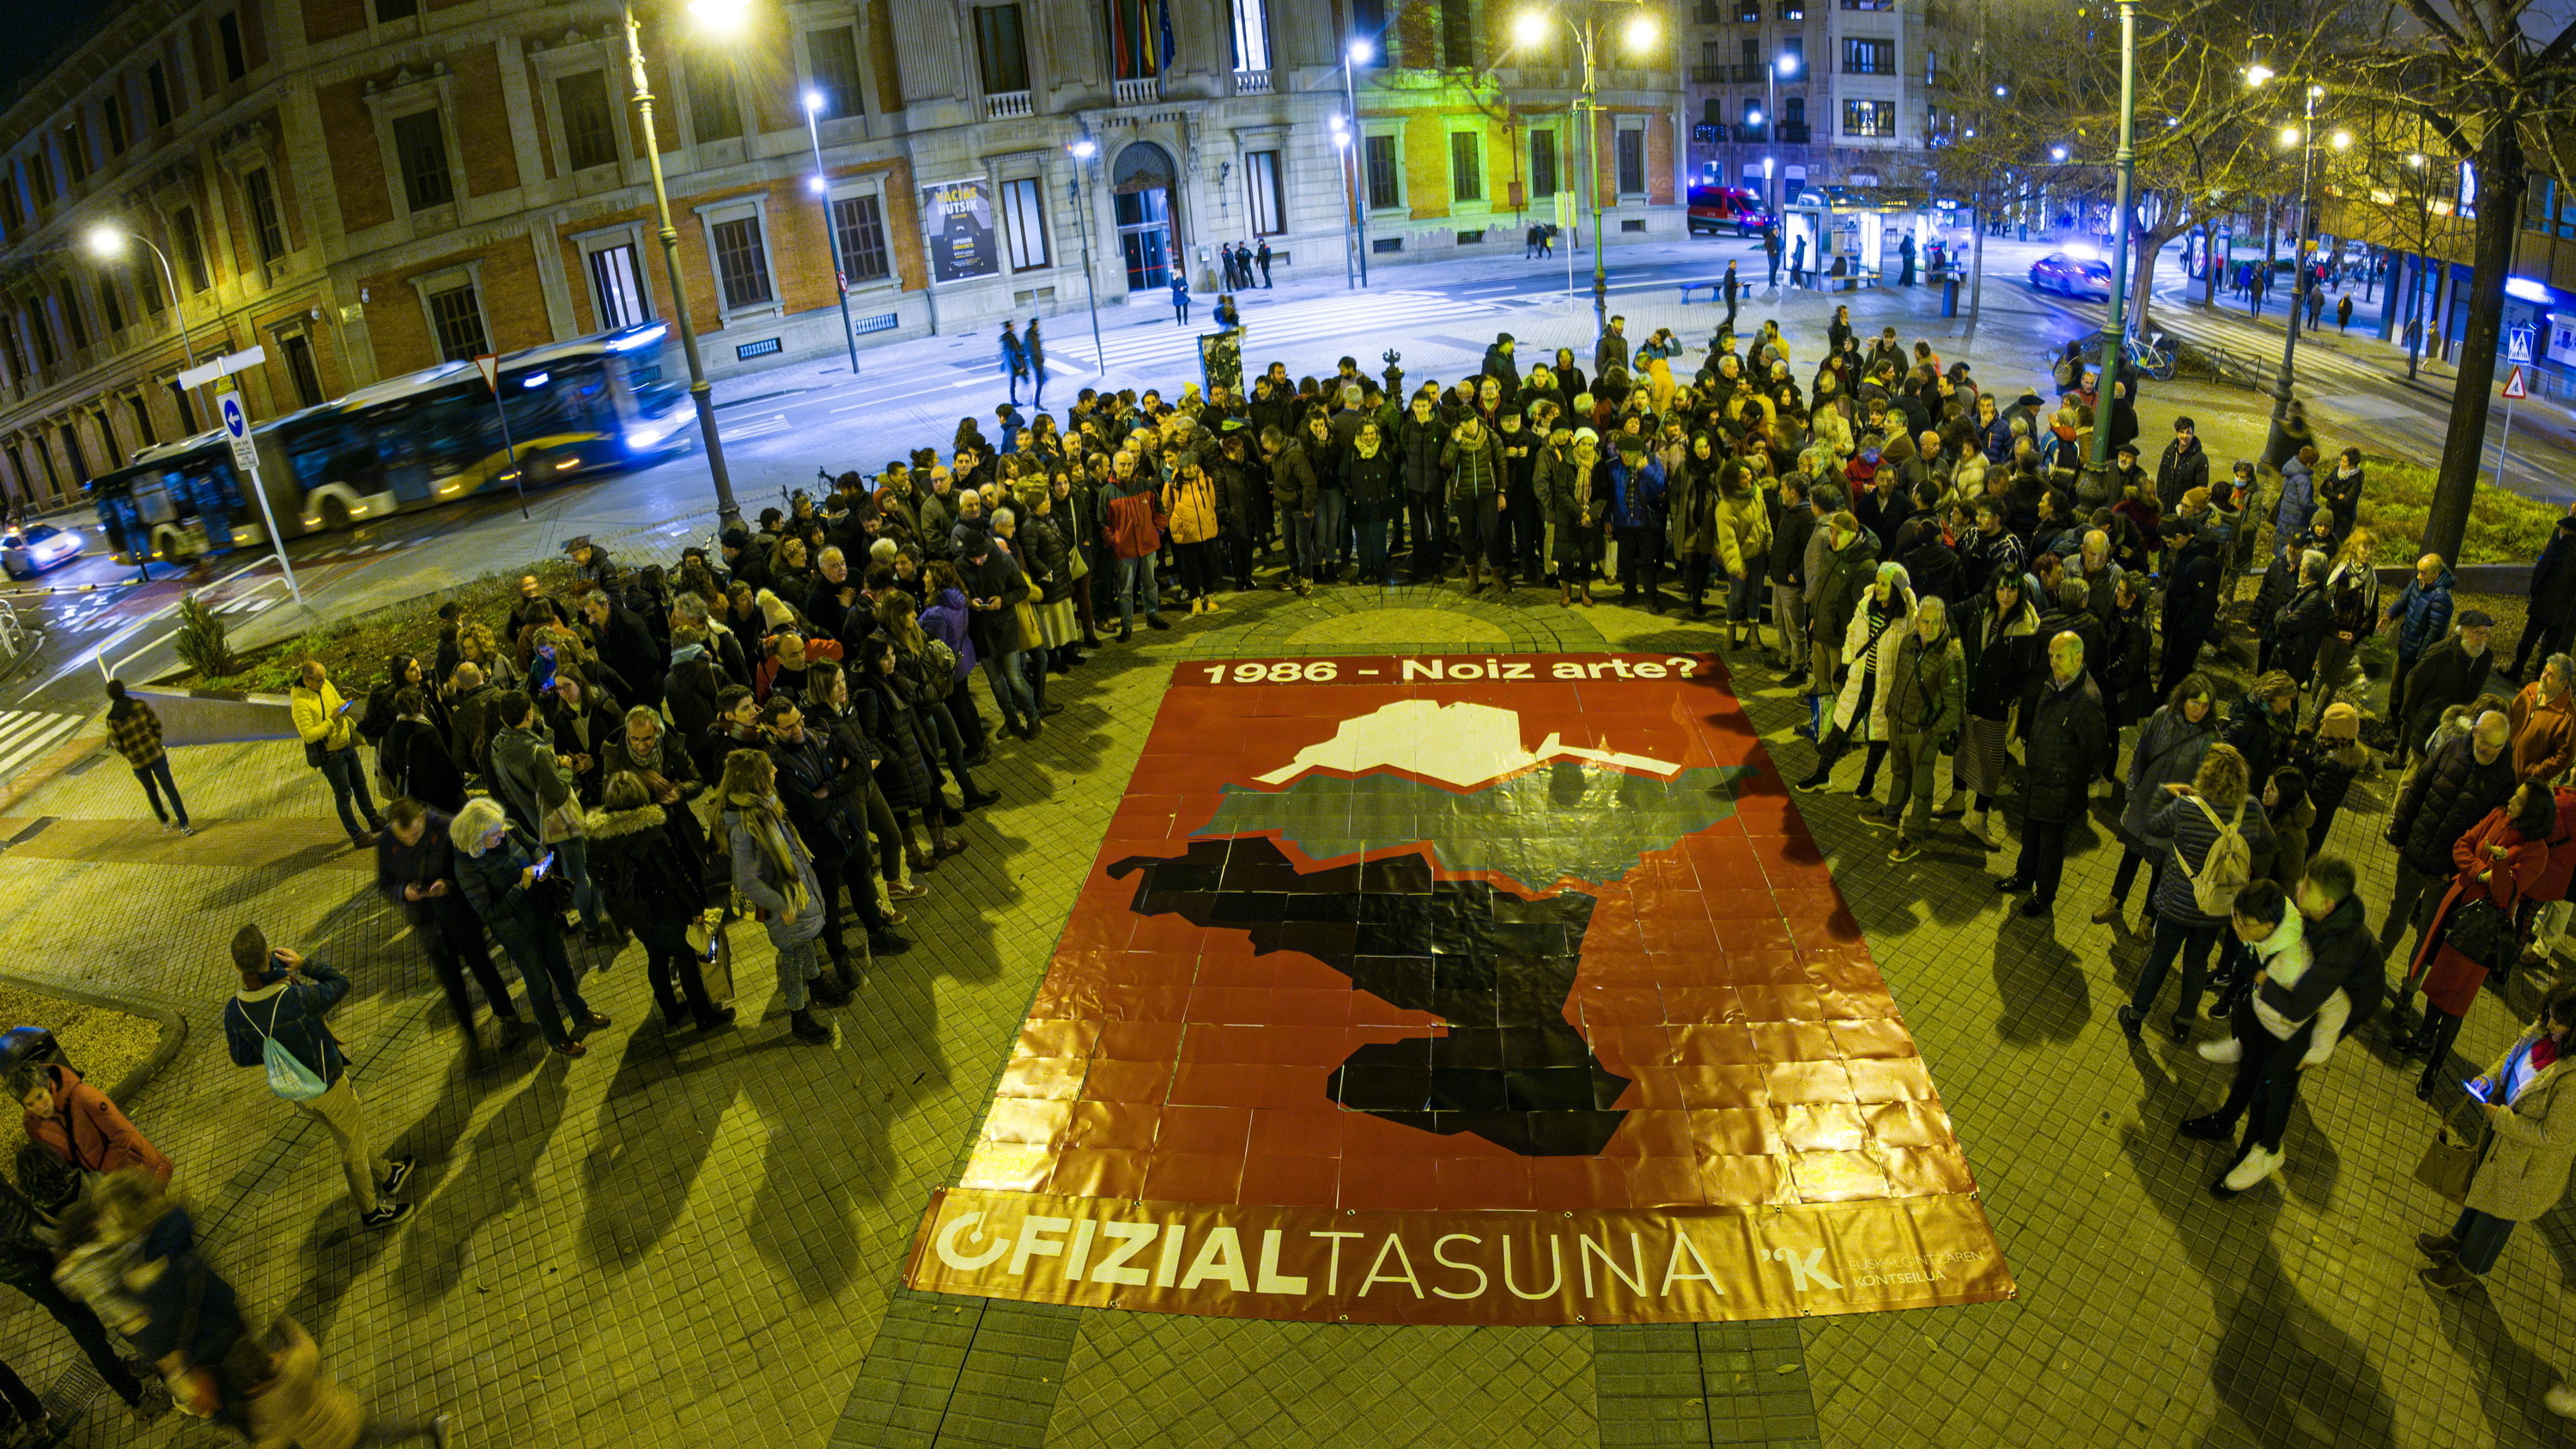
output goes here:
[[2138, 990], [2120, 1008], [2120, 1031], [2130, 1042], [2146, 1026], [2146, 1011], [2164, 990], [2174, 957], [2182, 957], [2182, 1000], [2174, 1003], [2172, 1036], [2190, 1039], [2208, 987], [2210, 949], [2228, 926], [2236, 892], [2254, 879], [2254, 853], [2275, 848], [2272, 822], [2251, 799], [2246, 758], [2233, 745], [2210, 745], [2192, 784], [2164, 789], [2172, 799], [2154, 810], [2146, 833], [2172, 841], [2174, 869], [2156, 884], [2156, 944], [2138, 972]]

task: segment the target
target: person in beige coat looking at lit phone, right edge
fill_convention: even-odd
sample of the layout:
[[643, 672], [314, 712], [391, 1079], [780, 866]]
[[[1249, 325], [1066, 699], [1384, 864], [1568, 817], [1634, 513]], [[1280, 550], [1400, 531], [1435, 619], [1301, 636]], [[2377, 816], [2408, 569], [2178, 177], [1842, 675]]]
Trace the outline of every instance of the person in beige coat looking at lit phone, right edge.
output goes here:
[[[2419, 1232], [2416, 1248], [2432, 1258], [2421, 1276], [2442, 1292], [2465, 1292], [2504, 1253], [2517, 1222], [2558, 1207], [2576, 1165], [2576, 1127], [2553, 1122], [2566, 1083], [2568, 1036], [2576, 1034], [2576, 982], [2540, 998], [2530, 1029], [2486, 1073], [2468, 1083], [2491, 1137], [2468, 1183], [2460, 1220], [2450, 1232]], [[2571, 1098], [2576, 1104], [2576, 1098]], [[2571, 1106], [2576, 1111], [2576, 1106]]]

